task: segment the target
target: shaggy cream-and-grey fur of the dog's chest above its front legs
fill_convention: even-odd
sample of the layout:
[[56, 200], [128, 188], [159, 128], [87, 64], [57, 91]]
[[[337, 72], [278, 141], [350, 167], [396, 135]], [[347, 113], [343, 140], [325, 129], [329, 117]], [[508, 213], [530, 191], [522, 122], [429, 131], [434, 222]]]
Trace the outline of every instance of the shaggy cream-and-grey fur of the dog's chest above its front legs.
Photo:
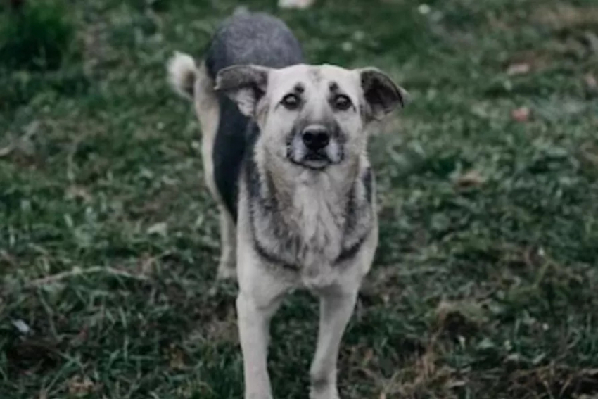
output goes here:
[[331, 283], [343, 270], [339, 263], [359, 251], [371, 229], [371, 204], [361, 180], [316, 179], [306, 173], [288, 183], [249, 167], [249, 217], [257, 253], [272, 265], [297, 271], [305, 286]]

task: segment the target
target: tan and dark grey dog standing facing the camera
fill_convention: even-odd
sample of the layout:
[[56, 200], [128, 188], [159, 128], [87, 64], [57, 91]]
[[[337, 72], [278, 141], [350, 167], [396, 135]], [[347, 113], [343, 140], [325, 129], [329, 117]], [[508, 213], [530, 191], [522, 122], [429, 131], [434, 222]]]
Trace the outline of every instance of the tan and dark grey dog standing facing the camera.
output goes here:
[[291, 30], [261, 13], [231, 16], [201, 63], [177, 52], [168, 72], [201, 124], [218, 277], [238, 278], [245, 398], [272, 399], [269, 322], [307, 288], [321, 301], [310, 398], [338, 399], [338, 348], [378, 244], [368, 129], [407, 92], [376, 68], [306, 65]]

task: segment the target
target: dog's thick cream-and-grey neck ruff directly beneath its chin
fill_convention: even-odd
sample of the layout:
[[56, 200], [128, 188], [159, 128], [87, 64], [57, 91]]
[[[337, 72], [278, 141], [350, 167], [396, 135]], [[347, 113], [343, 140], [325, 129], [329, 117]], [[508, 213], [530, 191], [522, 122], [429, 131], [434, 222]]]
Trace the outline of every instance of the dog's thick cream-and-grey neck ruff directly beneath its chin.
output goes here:
[[371, 229], [360, 178], [364, 158], [314, 171], [257, 155], [248, 165], [248, 184], [253, 236], [263, 256], [313, 275], [359, 246]]

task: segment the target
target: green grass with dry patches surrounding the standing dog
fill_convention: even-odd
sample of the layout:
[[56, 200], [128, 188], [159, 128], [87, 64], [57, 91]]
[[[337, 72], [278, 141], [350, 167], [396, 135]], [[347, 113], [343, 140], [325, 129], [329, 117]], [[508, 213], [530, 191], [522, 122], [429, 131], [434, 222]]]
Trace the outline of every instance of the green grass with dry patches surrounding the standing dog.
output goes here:
[[[70, 2], [80, 57], [0, 66], [0, 398], [241, 397], [198, 123], [164, 71], [235, 3]], [[594, 1], [247, 4], [413, 98], [371, 144], [381, 243], [343, 398], [597, 395]], [[276, 398], [306, 397], [316, 315], [299, 293], [274, 319]]]

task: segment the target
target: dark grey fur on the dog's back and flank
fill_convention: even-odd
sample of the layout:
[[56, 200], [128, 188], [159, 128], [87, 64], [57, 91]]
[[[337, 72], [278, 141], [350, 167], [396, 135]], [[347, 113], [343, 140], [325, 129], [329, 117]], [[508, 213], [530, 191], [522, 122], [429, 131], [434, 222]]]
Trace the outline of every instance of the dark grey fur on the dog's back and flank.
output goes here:
[[[222, 68], [231, 65], [284, 68], [303, 62], [303, 51], [291, 30], [278, 18], [262, 13], [242, 13], [224, 20], [205, 56], [212, 79]], [[227, 96], [218, 94], [218, 101], [220, 125], [212, 151], [214, 179], [224, 204], [236, 220], [241, 163], [259, 131]]]

